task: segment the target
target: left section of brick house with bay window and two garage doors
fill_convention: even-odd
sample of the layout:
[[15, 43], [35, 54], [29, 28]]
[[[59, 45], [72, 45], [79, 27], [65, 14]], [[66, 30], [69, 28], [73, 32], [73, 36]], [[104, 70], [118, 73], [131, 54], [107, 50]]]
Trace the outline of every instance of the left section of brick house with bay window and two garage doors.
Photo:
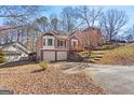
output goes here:
[[37, 41], [37, 56], [41, 60], [66, 60], [69, 35], [63, 32], [49, 31]]

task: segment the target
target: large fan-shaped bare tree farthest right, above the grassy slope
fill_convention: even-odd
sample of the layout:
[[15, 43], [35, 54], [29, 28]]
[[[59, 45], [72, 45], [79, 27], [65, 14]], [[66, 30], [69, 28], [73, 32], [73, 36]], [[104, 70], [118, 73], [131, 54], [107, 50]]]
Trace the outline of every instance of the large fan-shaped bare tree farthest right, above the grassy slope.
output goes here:
[[102, 14], [99, 25], [106, 34], [107, 41], [111, 40], [121, 31], [128, 23], [128, 15], [124, 11], [108, 10]]

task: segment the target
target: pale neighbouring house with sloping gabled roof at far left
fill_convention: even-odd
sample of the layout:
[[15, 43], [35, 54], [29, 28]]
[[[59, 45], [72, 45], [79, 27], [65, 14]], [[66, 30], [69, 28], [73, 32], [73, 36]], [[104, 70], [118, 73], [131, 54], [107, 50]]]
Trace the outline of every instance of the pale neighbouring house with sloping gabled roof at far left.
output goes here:
[[30, 51], [28, 51], [19, 42], [8, 43], [5, 45], [1, 45], [0, 48], [2, 48], [8, 62], [23, 60], [24, 58], [27, 58], [30, 53]]

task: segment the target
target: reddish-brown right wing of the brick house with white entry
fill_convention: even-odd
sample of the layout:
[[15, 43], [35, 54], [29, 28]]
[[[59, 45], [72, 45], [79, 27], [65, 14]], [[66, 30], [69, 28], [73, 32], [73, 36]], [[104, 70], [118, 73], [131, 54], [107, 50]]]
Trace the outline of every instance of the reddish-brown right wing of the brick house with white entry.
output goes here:
[[100, 29], [90, 27], [84, 30], [79, 30], [70, 35], [69, 51], [84, 51], [86, 46], [100, 46], [105, 42]]

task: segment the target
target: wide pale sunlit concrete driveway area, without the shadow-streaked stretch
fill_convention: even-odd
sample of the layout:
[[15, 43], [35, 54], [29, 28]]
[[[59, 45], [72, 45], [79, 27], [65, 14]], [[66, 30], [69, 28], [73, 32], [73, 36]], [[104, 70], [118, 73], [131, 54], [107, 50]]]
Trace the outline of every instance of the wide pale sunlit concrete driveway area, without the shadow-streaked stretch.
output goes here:
[[134, 95], [134, 67], [91, 66], [85, 72], [109, 94]]

